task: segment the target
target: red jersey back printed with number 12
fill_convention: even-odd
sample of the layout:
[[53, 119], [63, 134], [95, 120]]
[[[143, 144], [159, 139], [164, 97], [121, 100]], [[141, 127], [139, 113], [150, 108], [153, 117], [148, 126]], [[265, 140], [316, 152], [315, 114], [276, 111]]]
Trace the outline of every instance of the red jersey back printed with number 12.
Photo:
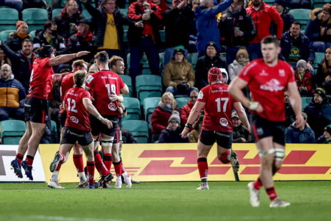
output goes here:
[[64, 101], [67, 110], [65, 127], [72, 127], [82, 131], [91, 131], [89, 112], [82, 100], [90, 99], [90, 93], [82, 87], [73, 87], [67, 90]]

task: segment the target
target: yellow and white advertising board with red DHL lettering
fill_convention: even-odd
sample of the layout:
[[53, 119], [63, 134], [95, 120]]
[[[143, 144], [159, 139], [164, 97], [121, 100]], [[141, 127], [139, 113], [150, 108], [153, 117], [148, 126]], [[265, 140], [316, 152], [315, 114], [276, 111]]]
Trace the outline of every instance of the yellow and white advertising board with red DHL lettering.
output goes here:
[[[41, 144], [33, 165], [34, 181], [50, 179], [49, 164], [59, 144]], [[241, 181], [255, 180], [260, 160], [254, 143], [233, 144], [238, 154]], [[16, 145], [0, 145], [0, 181], [28, 181], [17, 178], [10, 170], [10, 162], [17, 151]], [[83, 154], [84, 155], [84, 154]], [[122, 160], [126, 170], [138, 181], [198, 181], [197, 144], [124, 144]], [[208, 180], [234, 181], [231, 165], [221, 164], [214, 145], [208, 156]], [[84, 156], [84, 162], [85, 156]], [[114, 173], [114, 167], [112, 166]], [[96, 171], [95, 174], [98, 174]], [[61, 167], [60, 182], [78, 182], [77, 172], [69, 160]], [[331, 147], [328, 144], [287, 144], [283, 168], [274, 180], [331, 180]]]

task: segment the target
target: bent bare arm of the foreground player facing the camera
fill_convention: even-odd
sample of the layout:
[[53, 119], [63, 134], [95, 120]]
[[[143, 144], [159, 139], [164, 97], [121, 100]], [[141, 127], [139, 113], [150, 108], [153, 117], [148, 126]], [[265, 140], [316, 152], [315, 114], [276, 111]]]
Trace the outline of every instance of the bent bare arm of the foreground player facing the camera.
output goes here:
[[263, 111], [263, 107], [258, 102], [250, 101], [244, 96], [242, 89], [247, 85], [248, 82], [238, 77], [235, 77], [233, 81], [231, 81], [231, 83], [229, 84], [229, 93], [234, 99], [241, 102], [241, 104], [243, 104], [245, 107], [251, 110], [255, 110], [258, 113], [261, 113]]

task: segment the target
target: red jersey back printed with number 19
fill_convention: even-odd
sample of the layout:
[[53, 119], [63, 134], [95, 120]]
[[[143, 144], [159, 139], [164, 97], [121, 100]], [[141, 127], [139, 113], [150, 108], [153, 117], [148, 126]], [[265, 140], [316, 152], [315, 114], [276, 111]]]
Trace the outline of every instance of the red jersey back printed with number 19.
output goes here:
[[111, 94], [120, 94], [125, 86], [122, 78], [109, 70], [102, 70], [89, 76], [86, 86], [93, 90], [93, 104], [100, 114], [117, 115], [118, 102], [109, 100]]

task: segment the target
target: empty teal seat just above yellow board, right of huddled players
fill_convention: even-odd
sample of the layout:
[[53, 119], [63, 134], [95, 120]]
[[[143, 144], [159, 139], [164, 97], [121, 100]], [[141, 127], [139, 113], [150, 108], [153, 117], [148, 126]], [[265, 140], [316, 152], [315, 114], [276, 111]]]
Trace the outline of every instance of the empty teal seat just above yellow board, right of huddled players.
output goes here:
[[122, 122], [122, 128], [129, 130], [137, 143], [148, 143], [148, 125], [144, 120], [126, 120]]

